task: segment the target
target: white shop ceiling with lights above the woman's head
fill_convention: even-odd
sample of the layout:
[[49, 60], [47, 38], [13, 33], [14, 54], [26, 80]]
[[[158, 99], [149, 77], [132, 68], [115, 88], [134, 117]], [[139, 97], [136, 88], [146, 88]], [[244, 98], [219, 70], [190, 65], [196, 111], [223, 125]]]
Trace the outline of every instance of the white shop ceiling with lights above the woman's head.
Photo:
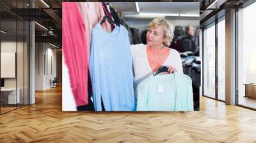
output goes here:
[[[135, 2], [109, 2], [129, 26], [145, 27], [154, 19], [154, 16], [139, 15]], [[199, 2], [138, 2], [140, 13], [168, 13], [168, 14], [191, 14], [198, 15]], [[175, 26], [199, 26], [199, 17], [165, 17]]]

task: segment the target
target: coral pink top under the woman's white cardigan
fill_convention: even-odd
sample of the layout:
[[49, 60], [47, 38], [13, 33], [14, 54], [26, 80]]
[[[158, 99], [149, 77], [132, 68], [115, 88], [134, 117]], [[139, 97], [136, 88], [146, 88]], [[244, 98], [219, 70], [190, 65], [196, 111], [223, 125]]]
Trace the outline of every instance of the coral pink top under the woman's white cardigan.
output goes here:
[[163, 66], [164, 61], [166, 61], [170, 54], [170, 50], [170, 48], [155, 49], [147, 46], [148, 63], [153, 72], [156, 72], [157, 69]]

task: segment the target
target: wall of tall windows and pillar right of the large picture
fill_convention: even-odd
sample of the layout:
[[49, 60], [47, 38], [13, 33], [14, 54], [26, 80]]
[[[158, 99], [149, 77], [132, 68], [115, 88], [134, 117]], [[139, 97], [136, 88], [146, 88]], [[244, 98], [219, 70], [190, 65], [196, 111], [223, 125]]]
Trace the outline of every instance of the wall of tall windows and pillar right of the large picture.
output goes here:
[[[242, 6], [238, 6], [239, 4]], [[228, 11], [228, 6], [232, 5], [237, 5], [237, 12], [225, 13]], [[254, 62], [256, 46], [253, 42], [253, 34], [256, 32], [253, 25], [255, 26], [256, 21], [252, 19], [253, 13], [256, 12], [256, 3], [227, 1], [221, 8], [222, 10], [216, 11], [218, 13], [216, 17], [208, 16], [208, 19], [200, 17], [200, 37], [202, 37], [200, 46], [202, 45], [203, 49], [202, 95], [221, 102], [229, 100], [226, 103], [230, 104], [230, 97], [227, 97], [226, 92], [230, 90], [230, 85], [234, 84], [232, 88], [233, 94], [236, 94], [234, 104], [256, 109], [256, 64]], [[204, 13], [207, 12], [204, 11]], [[228, 22], [226, 22], [227, 19]], [[234, 36], [234, 49], [227, 48], [230, 46], [230, 43], [226, 42], [229, 39], [228, 36]], [[231, 61], [230, 57], [233, 58]], [[227, 67], [233, 70], [226, 71]], [[233, 80], [226, 81], [229, 75], [233, 76]]]

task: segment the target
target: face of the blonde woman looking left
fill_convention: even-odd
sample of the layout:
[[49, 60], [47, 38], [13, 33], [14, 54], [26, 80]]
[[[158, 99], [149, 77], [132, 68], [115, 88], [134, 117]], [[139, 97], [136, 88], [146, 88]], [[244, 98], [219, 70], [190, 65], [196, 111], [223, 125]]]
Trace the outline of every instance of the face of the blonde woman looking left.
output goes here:
[[163, 40], [164, 40], [163, 26], [157, 26], [154, 29], [153, 27], [148, 27], [147, 45], [158, 47], [159, 45], [163, 45]]

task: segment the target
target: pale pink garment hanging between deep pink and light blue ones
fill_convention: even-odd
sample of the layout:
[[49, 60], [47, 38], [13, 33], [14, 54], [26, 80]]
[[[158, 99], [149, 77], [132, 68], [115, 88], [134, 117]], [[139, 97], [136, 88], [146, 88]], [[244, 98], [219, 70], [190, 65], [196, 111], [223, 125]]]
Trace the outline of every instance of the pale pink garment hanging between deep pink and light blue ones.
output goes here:
[[[92, 29], [95, 27], [97, 23], [100, 22], [102, 17], [104, 17], [104, 10], [102, 7], [102, 3], [100, 2], [77, 2], [79, 5], [80, 13], [83, 17], [84, 24], [86, 27], [86, 41], [88, 59], [90, 58], [90, 50], [91, 50], [91, 39], [92, 39]], [[105, 26], [105, 25], [104, 25]], [[102, 26], [104, 28], [104, 26]]]

